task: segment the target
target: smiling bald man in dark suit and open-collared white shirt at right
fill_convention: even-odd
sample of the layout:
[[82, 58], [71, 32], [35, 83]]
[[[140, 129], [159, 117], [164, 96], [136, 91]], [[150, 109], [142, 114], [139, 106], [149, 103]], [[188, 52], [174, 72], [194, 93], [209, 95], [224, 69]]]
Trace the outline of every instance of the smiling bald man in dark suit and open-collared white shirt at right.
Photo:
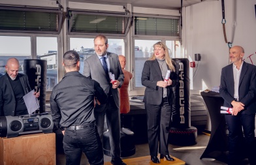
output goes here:
[[223, 106], [232, 107], [225, 119], [229, 130], [229, 165], [241, 164], [240, 140], [242, 128], [250, 164], [255, 159], [256, 67], [242, 60], [244, 48], [234, 46], [229, 51], [232, 64], [222, 68], [219, 93]]

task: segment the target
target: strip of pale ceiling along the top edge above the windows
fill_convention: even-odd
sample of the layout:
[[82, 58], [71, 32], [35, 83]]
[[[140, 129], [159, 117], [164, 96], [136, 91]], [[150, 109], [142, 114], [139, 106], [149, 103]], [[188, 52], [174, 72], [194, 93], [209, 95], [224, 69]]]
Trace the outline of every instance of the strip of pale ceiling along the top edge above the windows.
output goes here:
[[[148, 8], [165, 8], [178, 9], [181, 7], [181, 0], [69, 0], [72, 2], [84, 3], [99, 3], [107, 5], [126, 5], [131, 4], [133, 7], [148, 7]], [[203, 1], [218, 1], [218, 0], [183, 0], [183, 7], [201, 3]]]

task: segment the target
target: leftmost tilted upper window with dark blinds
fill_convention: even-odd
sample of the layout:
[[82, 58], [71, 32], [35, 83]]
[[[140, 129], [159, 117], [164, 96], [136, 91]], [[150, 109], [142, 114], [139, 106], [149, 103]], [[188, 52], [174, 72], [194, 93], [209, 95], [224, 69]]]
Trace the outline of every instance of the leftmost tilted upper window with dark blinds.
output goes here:
[[62, 11], [57, 8], [0, 7], [0, 20], [0, 32], [58, 34]]

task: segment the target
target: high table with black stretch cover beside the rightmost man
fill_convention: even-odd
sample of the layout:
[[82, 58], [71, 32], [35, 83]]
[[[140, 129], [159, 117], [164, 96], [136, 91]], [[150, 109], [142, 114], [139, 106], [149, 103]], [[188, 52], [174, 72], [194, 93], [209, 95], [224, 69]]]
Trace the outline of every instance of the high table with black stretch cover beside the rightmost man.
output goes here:
[[220, 113], [224, 100], [219, 93], [216, 92], [210, 91], [206, 93], [202, 91], [200, 94], [204, 99], [212, 124], [210, 140], [200, 159], [215, 158], [216, 160], [227, 163], [227, 125], [225, 115]]

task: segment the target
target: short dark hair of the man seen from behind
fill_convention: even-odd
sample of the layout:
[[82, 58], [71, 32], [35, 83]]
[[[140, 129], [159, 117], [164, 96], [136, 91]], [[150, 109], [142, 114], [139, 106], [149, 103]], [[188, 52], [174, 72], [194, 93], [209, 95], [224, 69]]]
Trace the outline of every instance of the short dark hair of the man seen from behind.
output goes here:
[[80, 56], [74, 50], [69, 50], [63, 55], [63, 63], [65, 67], [68, 67], [68, 68], [76, 67], [76, 64], [78, 61], [80, 61]]

